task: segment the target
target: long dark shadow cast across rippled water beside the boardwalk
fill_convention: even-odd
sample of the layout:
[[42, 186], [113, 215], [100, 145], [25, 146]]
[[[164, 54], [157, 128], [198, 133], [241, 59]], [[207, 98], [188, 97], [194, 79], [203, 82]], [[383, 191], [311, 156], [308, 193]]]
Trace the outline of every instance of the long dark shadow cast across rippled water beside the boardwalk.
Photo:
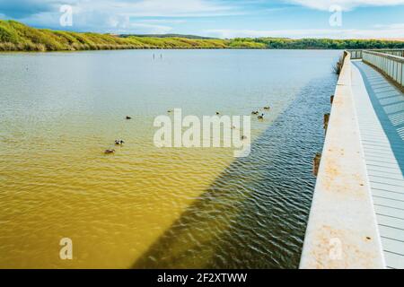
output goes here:
[[329, 74], [304, 87], [132, 267], [296, 268], [335, 83]]

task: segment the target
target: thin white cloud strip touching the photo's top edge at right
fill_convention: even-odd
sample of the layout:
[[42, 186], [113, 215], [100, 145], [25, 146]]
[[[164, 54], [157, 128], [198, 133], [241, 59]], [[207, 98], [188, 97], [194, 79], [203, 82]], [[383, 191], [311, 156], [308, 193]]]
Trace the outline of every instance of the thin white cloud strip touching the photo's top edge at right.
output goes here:
[[391, 6], [404, 4], [404, 0], [285, 0], [288, 3], [300, 4], [312, 9], [327, 10], [332, 5], [338, 5], [344, 11], [359, 6]]

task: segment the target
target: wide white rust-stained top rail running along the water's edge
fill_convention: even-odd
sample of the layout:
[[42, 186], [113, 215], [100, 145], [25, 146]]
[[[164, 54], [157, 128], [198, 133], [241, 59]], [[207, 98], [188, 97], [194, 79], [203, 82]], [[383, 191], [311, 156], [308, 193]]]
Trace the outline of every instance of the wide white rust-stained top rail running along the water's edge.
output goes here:
[[300, 268], [384, 268], [347, 52], [332, 103]]

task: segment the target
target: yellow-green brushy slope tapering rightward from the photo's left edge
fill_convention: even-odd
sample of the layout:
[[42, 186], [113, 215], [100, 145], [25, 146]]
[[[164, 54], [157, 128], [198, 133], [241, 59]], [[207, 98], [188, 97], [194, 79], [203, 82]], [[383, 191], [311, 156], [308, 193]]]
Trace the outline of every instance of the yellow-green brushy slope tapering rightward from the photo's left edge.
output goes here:
[[2, 51], [75, 51], [130, 48], [226, 48], [223, 39], [119, 37], [35, 29], [15, 21], [0, 21]]

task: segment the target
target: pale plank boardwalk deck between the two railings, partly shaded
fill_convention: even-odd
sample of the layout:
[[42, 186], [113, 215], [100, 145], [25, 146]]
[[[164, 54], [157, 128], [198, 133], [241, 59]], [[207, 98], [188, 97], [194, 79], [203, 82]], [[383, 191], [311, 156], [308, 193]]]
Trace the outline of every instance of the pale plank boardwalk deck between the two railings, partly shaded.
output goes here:
[[404, 94], [362, 61], [352, 93], [388, 268], [404, 268]]

